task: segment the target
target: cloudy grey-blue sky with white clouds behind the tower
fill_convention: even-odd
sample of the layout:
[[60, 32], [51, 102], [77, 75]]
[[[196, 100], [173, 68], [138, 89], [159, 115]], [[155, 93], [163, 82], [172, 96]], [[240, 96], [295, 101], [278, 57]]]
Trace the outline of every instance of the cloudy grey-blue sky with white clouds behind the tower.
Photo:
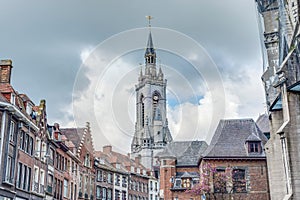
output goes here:
[[13, 86], [36, 104], [46, 99], [50, 124], [91, 122], [97, 149], [129, 151], [145, 15], [154, 17], [174, 139], [209, 142], [220, 118], [265, 110], [254, 0], [0, 3], [0, 58], [13, 60]]

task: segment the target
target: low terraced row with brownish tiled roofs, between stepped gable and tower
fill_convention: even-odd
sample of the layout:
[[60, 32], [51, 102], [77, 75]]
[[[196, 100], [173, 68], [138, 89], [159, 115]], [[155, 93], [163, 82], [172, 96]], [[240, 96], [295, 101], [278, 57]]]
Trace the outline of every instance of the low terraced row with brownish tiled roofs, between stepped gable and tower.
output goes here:
[[[112, 146], [104, 146], [103, 151], [96, 151], [97, 158], [97, 183], [99, 198], [104, 192], [113, 191], [112, 199], [120, 200], [146, 200], [149, 198], [149, 176], [147, 169], [140, 163], [137, 157], [135, 160], [130, 155], [124, 155], [112, 150]], [[107, 178], [105, 181], [104, 175]], [[113, 184], [108, 182], [108, 175], [113, 174]], [[99, 178], [98, 178], [99, 176]], [[102, 188], [102, 189], [101, 189]], [[108, 194], [105, 194], [108, 196]], [[108, 198], [107, 198], [108, 199]]]

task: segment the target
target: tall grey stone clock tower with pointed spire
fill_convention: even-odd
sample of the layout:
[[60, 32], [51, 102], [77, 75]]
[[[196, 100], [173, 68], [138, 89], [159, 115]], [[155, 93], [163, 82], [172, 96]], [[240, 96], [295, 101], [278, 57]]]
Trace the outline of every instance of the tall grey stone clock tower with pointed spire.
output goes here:
[[[157, 69], [158, 68], [158, 69]], [[151, 30], [145, 51], [145, 66], [141, 68], [136, 91], [136, 123], [131, 143], [131, 157], [151, 169], [154, 156], [172, 141], [166, 116], [167, 80], [161, 67], [156, 66], [156, 52]]]

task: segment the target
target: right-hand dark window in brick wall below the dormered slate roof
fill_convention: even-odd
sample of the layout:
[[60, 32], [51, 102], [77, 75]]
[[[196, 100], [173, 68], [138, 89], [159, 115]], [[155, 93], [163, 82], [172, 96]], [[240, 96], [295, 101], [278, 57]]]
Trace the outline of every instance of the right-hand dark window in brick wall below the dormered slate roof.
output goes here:
[[233, 192], [246, 192], [246, 172], [244, 169], [232, 171]]

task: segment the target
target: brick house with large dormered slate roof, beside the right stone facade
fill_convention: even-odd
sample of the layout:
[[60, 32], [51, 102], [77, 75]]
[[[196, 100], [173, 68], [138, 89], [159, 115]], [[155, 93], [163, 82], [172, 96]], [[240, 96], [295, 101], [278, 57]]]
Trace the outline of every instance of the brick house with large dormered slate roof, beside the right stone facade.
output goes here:
[[[252, 119], [221, 120], [200, 164], [200, 171], [206, 163], [214, 166], [211, 192], [218, 198], [270, 199], [266, 142]], [[216, 173], [225, 172], [224, 184], [215, 184]]]

